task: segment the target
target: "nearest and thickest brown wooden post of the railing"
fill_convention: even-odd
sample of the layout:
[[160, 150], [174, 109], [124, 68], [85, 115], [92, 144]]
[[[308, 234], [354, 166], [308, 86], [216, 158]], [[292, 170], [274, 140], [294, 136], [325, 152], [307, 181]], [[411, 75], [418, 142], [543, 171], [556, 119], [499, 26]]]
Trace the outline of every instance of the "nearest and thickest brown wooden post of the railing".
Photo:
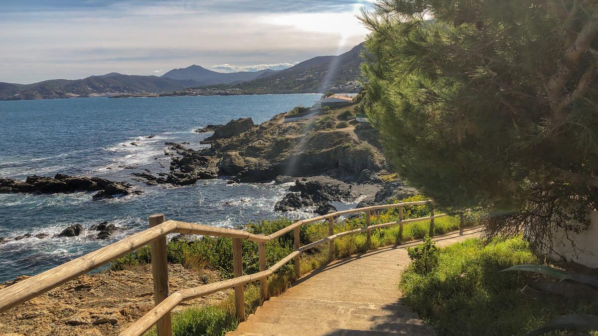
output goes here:
[[[165, 221], [163, 213], [149, 216], [149, 227], [155, 227]], [[168, 297], [168, 259], [166, 255], [166, 236], [149, 243], [151, 249], [151, 273], [154, 279], [154, 304], [157, 306]], [[172, 319], [170, 311], [158, 320], [156, 331], [158, 336], [172, 335]]]

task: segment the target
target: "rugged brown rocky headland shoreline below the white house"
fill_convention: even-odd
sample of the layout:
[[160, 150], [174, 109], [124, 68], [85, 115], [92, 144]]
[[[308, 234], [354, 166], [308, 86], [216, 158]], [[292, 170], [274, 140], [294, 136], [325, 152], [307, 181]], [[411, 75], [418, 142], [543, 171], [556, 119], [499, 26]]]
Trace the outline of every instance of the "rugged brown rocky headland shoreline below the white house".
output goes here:
[[[331, 201], [354, 201], [365, 196], [360, 204], [383, 203], [395, 197], [386, 191], [392, 185], [399, 196], [411, 196], [413, 189], [397, 181], [385, 182], [388, 164], [380, 150], [377, 131], [367, 123], [352, 121], [349, 127], [335, 126], [342, 120], [341, 111], [322, 112], [301, 121], [285, 122], [285, 115], [275, 115], [262, 124], [251, 118], [231, 120], [225, 125], [209, 125], [197, 133], [213, 133], [201, 143], [209, 148], [191, 149], [181, 143], [169, 145], [165, 155], [171, 156], [169, 172], [135, 172], [138, 181], [149, 185], [193, 185], [202, 179], [228, 178], [237, 182], [294, 182], [295, 186], [283, 200], [276, 203], [278, 211], [314, 207], [316, 213], [333, 210]], [[316, 193], [303, 186], [314, 176], [329, 176], [332, 181], [319, 184]], [[319, 183], [318, 181], [315, 182]], [[345, 190], [338, 185], [346, 184]], [[335, 187], [335, 185], [337, 185]], [[351, 193], [354, 185], [375, 185], [368, 195]], [[294, 189], [295, 188], [295, 189]], [[349, 188], [347, 193], [346, 189]], [[365, 203], [364, 203], [365, 202]], [[364, 205], [365, 206], [365, 205]]]

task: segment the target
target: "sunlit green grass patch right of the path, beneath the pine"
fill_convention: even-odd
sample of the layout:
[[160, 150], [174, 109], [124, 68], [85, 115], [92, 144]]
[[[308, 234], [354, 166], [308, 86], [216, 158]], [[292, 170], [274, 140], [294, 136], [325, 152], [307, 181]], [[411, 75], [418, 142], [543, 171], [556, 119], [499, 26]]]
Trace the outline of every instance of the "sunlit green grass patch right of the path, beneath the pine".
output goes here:
[[520, 289], [534, 275], [499, 273], [515, 264], [538, 262], [521, 238], [484, 245], [469, 239], [440, 252], [427, 274], [411, 265], [401, 279], [404, 302], [438, 335], [523, 335], [547, 320], [570, 313], [598, 313], [598, 304], [565, 297], [532, 299]]

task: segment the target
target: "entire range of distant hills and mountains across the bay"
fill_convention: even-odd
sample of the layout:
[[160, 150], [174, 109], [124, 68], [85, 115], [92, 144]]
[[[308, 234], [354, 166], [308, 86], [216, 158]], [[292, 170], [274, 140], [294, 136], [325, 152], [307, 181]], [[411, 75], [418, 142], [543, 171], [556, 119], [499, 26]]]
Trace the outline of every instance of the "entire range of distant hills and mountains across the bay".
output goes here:
[[[283, 70], [215, 72], [199, 65], [172, 69], [161, 77], [111, 72], [82, 80], [48, 80], [33, 84], [0, 82], [0, 100], [94, 96], [188, 96], [196, 94], [262, 94], [358, 92], [359, 44], [338, 56], [318, 56]], [[208, 86], [210, 85], [210, 86]], [[213, 86], [215, 85], [215, 86]]]

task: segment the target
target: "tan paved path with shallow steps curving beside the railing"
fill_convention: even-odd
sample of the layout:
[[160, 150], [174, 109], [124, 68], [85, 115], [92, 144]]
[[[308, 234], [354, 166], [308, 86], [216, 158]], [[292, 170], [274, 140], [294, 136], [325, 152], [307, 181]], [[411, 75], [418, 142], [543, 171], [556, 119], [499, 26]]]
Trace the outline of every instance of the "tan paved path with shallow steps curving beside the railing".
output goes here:
[[[434, 240], [447, 246], [478, 233], [474, 228]], [[397, 286], [409, 264], [406, 248], [419, 243], [377, 249], [312, 271], [227, 335], [435, 335], [401, 304]]]

